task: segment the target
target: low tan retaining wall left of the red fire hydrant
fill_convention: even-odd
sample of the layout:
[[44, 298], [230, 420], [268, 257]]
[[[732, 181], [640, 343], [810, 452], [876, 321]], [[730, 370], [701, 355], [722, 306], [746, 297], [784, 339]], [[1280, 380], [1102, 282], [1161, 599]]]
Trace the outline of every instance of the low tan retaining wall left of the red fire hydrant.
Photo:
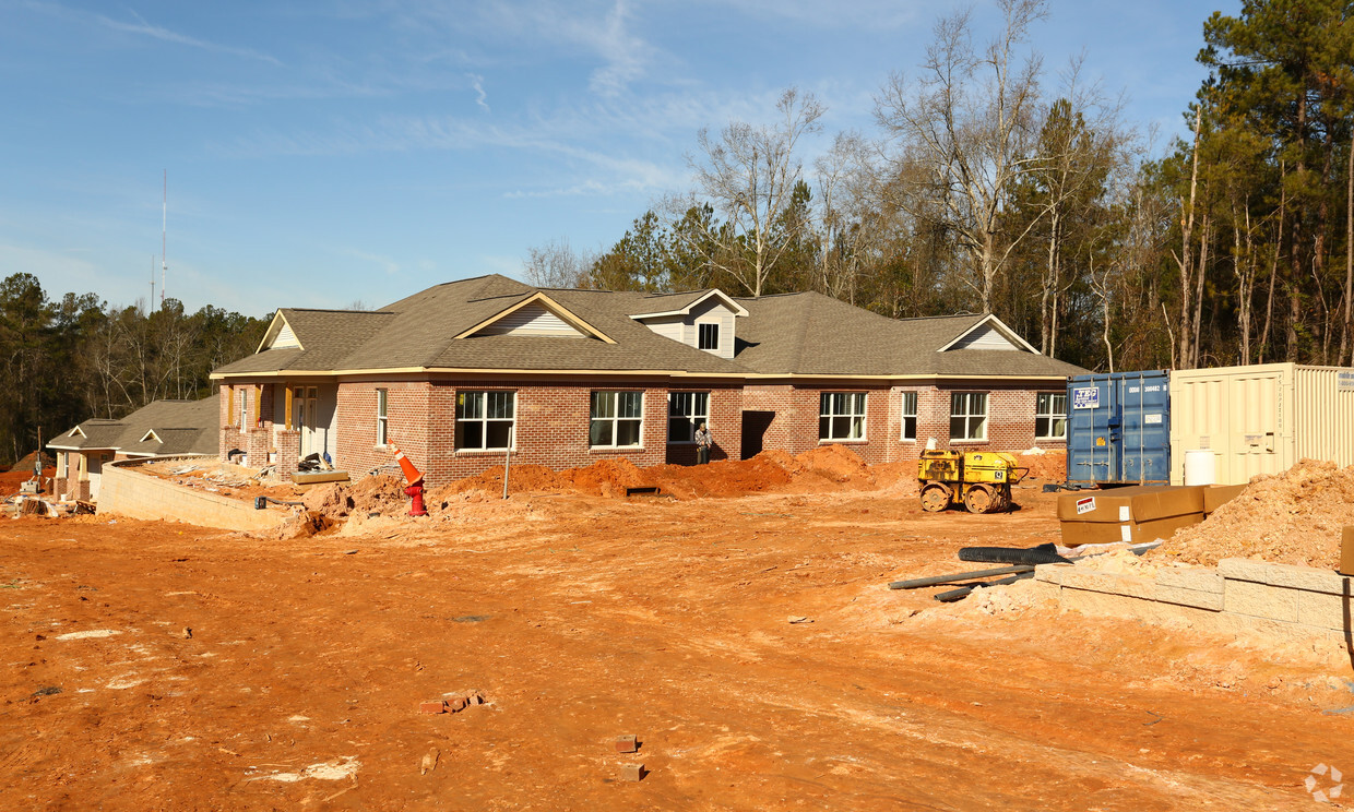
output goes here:
[[[215, 461], [211, 456], [161, 457], [195, 461]], [[175, 484], [137, 471], [141, 460], [126, 460], [103, 467], [103, 486], [99, 491], [99, 513], [130, 518], [181, 521], [204, 528], [225, 531], [271, 531], [291, 517], [291, 510], [268, 508], [255, 510], [253, 502], [232, 499], [219, 494]]]

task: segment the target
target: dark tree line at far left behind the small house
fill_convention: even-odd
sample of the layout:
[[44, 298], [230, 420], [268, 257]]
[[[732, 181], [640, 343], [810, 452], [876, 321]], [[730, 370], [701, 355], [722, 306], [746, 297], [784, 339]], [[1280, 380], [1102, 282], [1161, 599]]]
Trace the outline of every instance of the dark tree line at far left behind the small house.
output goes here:
[[0, 464], [91, 417], [123, 417], [157, 399], [211, 394], [211, 369], [255, 351], [267, 319], [177, 299], [157, 310], [95, 294], [51, 300], [31, 273], [0, 281]]

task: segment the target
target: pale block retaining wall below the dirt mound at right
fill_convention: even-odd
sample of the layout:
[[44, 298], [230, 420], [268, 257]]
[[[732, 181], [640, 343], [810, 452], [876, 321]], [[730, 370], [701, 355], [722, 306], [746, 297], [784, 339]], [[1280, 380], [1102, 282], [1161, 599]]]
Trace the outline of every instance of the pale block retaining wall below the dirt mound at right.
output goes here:
[[1063, 608], [1202, 632], [1347, 641], [1351, 581], [1331, 570], [1223, 559], [1216, 570], [1162, 568], [1155, 578], [1071, 564], [1036, 567], [1036, 589]]

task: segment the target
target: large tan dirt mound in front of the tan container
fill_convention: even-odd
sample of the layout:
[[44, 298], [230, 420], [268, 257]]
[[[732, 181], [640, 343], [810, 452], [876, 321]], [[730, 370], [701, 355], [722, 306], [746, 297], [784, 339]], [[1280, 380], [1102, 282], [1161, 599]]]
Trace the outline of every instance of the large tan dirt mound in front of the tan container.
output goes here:
[[1339, 566], [1340, 528], [1351, 522], [1354, 466], [1301, 460], [1284, 474], [1257, 476], [1158, 555], [1208, 567], [1224, 558], [1254, 558], [1330, 570]]

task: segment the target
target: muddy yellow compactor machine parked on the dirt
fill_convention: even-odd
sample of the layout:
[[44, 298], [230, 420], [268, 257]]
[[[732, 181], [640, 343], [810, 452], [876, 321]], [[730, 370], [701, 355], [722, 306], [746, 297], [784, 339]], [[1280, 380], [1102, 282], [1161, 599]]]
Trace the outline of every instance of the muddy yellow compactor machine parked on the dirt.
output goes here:
[[1009, 510], [1011, 484], [1028, 472], [1010, 453], [923, 451], [917, 461], [922, 510], [938, 513], [953, 502], [963, 502], [969, 513]]

